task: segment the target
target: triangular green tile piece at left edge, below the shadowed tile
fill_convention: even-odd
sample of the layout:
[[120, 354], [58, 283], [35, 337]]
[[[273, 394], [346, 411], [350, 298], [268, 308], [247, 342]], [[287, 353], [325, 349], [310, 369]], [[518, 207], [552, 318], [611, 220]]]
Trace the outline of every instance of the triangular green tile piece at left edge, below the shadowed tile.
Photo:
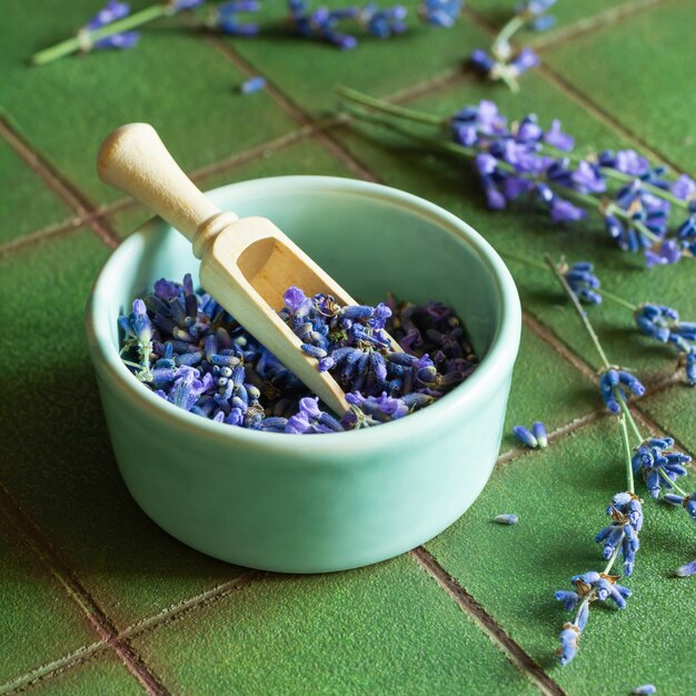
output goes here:
[[78, 605], [26, 546], [0, 508], [0, 685], [93, 643]]

